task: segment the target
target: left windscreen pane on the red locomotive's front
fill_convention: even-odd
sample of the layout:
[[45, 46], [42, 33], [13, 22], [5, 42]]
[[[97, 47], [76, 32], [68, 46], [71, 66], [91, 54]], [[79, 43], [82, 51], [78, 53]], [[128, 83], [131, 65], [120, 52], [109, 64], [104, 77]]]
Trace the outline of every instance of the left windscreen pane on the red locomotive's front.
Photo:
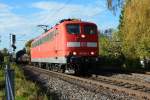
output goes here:
[[70, 34], [80, 34], [80, 26], [79, 24], [68, 24], [67, 32]]

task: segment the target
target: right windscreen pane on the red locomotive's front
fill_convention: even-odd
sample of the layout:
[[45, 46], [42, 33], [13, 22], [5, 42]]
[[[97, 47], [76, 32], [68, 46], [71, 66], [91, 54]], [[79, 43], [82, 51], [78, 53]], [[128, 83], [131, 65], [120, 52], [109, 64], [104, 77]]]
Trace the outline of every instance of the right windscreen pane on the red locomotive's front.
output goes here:
[[84, 33], [86, 34], [96, 34], [96, 26], [94, 25], [84, 25]]

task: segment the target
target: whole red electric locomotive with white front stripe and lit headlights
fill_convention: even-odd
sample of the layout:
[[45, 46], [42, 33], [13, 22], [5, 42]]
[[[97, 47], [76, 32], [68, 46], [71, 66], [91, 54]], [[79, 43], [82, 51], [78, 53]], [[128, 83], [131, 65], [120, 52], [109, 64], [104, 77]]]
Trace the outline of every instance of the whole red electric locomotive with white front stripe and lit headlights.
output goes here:
[[34, 39], [31, 62], [74, 74], [81, 71], [85, 63], [97, 62], [98, 51], [96, 24], [66, 19]]

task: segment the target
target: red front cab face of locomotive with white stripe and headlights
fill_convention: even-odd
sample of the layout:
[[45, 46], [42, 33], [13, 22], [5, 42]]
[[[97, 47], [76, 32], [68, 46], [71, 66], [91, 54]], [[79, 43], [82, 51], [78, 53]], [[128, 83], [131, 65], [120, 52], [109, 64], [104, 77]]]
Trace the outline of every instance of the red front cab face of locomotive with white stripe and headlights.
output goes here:
[[96, 63], [99, 50], [97, 26], [81, 21], [67, 21], [64, 26], [67, 63], [77, 66]]

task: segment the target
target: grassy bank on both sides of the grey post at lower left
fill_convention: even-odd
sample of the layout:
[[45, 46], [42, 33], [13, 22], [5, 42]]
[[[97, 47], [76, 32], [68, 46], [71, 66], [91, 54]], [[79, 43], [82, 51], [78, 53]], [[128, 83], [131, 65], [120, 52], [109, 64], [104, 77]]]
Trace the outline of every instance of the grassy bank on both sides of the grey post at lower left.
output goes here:
[[[49, 100], [50, 98], [41, 91], [39, 86], [26, 80], [21, 66], [11, 65], [15, 70], [15, 100]], [[4, 68], [0, 69], [0, 100], [5, 99]]]

